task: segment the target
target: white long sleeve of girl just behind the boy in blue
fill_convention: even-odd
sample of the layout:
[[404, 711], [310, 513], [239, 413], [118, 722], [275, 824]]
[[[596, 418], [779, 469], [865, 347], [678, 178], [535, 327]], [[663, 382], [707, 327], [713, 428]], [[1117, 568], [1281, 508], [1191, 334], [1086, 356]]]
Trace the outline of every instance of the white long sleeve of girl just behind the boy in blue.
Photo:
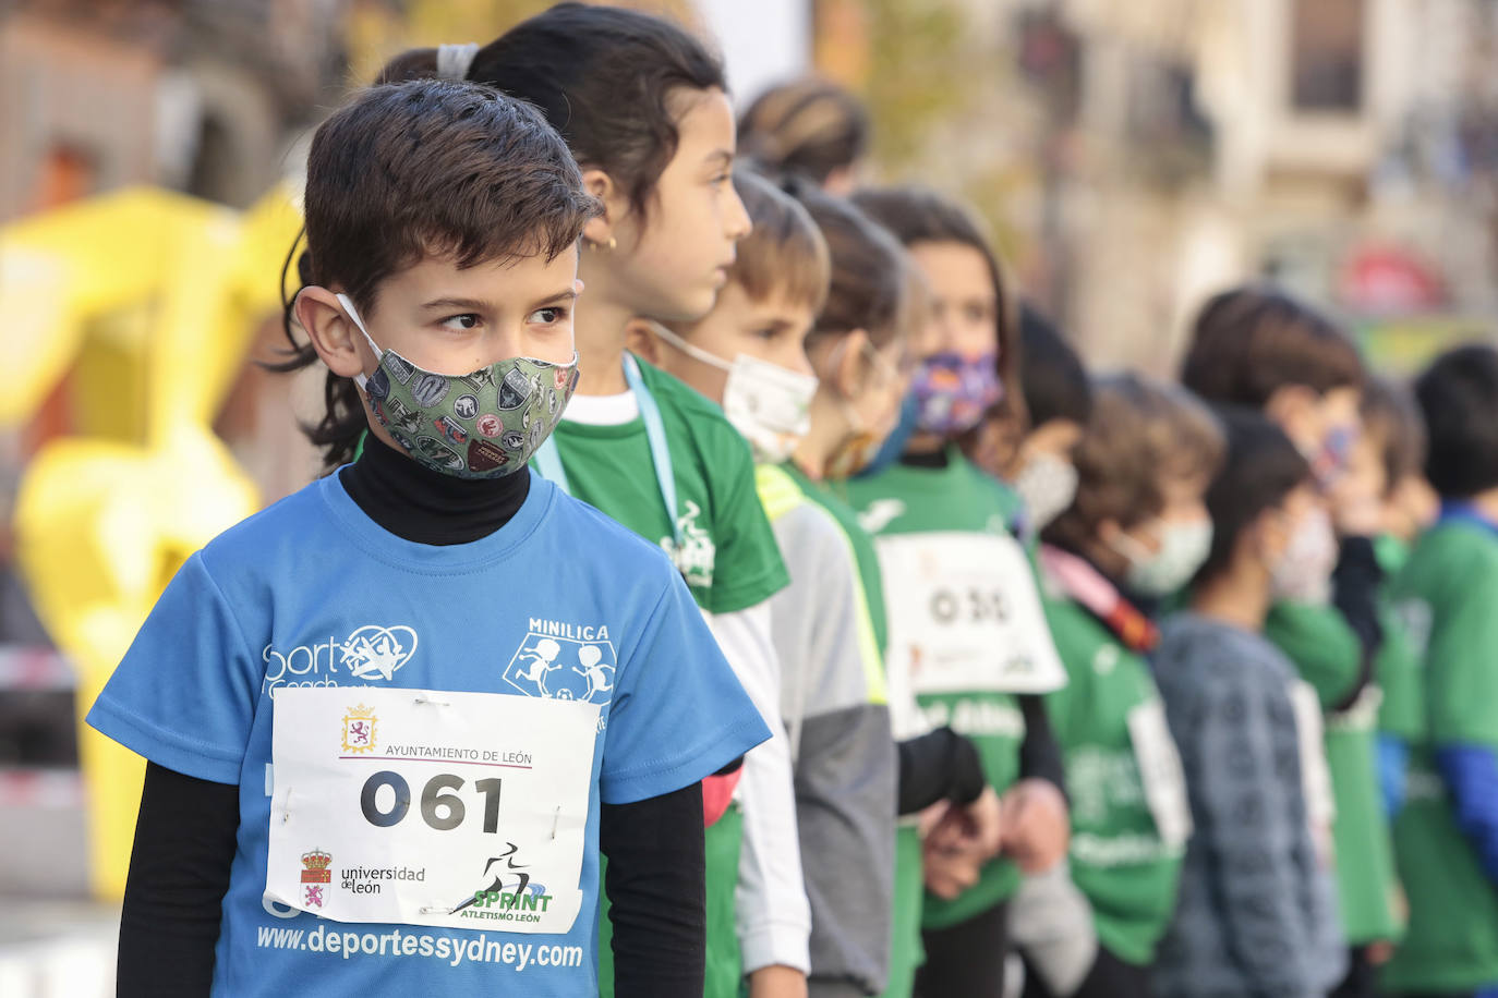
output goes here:
[[801, 880], [789, 739], [780, 721], [780, 664], [768, 601], [734, 613], [704, 613], [713, 637], [773, 732], [745, 756], [739, 799], [745, 836], [734, 898], [745, 973], [776, 964], [810, 971], [812, 908]]

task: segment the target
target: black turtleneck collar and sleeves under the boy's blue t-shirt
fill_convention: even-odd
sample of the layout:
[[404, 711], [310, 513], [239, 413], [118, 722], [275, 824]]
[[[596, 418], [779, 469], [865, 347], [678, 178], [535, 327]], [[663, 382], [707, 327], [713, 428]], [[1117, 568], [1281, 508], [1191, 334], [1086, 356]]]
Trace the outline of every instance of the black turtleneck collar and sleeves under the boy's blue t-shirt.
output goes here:
[[[530, 494], [529, 473], [457, 479], [374, 435], [339, 482], [372, 521], [422, 545], [487, 537]], [[238, 826], [238, 786], [147, 765], [120, 919], [120, 998], [208, 994]], [[614, 994], [698, 998], [707, 923], [700, 786], [602, 805], [598, 844], [608, 857]]]

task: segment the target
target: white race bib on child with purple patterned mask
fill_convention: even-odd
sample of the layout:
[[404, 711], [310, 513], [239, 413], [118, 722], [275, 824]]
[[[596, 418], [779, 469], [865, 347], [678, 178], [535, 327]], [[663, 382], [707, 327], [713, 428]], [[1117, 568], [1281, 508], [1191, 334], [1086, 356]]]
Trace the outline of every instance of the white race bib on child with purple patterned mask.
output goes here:
[[891, 687], [923, 693], [1049, 693], [1067, 685], [1035, 575], [1013, 537], [879, 537]]

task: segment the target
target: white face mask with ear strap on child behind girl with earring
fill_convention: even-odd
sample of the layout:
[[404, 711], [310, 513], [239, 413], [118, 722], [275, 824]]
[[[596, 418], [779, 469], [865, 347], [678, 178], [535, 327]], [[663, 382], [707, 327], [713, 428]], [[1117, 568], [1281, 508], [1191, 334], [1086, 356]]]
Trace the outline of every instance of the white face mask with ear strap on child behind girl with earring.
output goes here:
[[761, 464], [780, 464], [812, 429], [812, 397], [816, 379], [810, 374], [786, 371], [777, 364], [740, 353], [730, 361], [694, 347], [658, 322], [650, 322], [656, 335], [686, 356], [719, 371], [728, 371], [724, 385], [724, 416], [743, 434]]

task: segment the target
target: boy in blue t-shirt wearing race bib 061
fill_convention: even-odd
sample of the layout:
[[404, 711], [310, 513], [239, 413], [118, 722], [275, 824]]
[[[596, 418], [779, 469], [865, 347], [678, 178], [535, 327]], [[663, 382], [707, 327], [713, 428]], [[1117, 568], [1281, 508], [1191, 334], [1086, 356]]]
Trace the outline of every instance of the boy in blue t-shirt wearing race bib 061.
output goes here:
[[313, 440], [370, 435], [189, 558], [88, 714], [150, 763], [121, 995], [590, 994], [601, 847], [617, 994], [701, 994], [697, 783], [768, 732], [664, 554], [526, 465], [595, 211], [493, 90], [318, 130]]

